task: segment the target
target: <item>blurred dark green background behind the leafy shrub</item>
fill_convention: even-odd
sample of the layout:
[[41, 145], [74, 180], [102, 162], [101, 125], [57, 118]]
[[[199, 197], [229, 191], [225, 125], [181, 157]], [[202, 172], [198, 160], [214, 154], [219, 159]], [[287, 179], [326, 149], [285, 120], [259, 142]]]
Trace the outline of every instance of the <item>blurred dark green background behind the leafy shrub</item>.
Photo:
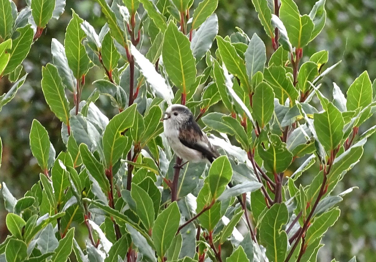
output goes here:
[[[18, 9], [26, 6], [26, 1], [14, 0]], [[200, 1], [195, 0], [194, 7]], [[296, 0], [301, 14], [307, 14], [315, 0]], [[32, 120], [38, 119], [47, 128], [56, 152], [65, 149], [61, 140], [61, 123], [49, 110], [41, 90], [41, 66], [52, 61], [51, 39], [64, 42], [65, 28], [71, 19], [71, 8], [87, 20], [99, 32], [105, 24], [100, 8], [93, 0], [67, 0], [64, 14], [58, 21], [52, 20], [41, 38], [32, 46], [24, 61], [24, 70], [29, 73], [26, 83], [18, 91], [14, 100], [3, 107], [0, 113], [0, 136], [3, 140], [3, 160], [0, 181], [4, 181], [15, 197], [19, 198], [38, 181], [40, 169], [32, 157], [29, 147], [29, 131]], [[375, 0], [331, 0], [326, 2], [327, 21], [320, 35], [303, 50], [303, 62], [320, 50], [329, 51], [327, 66], [342, 60], [322, 81], [322, 92], [331, 96], [333, 82], [346, 92], [350, 84], [363, 71], [367, 70], [371, 80], [376, 78], [376, 1]], [[220, 0], [216, 11], [219, 20], [219, 35], [230, 35], [238, 26], [249, 36], [257, 33], [267, 46], [270, 57], [270, 38], [258, 21], [251, 0]], [[325, 67], [325, 68], [326, 68]], [[82, 99], [87, 98], [93, 87], [92, 81], [103, 78], [104, 71], [92, 68], [86, 76]], [[6, 78], [0, 81], [0, 94], [8, 91], [10, 83]], [[70, 100], [71, 97], [68, 97]], [[109, 116], [115, 113], [108, 99], [101, 97], [98, 106]], [[372, 117], [359, 130], [359, 133], [376, 124]], [[376, 252], [376, 136], [370, 137], [364, 148], [364, 155], [343, 181], [337, 192], [358, 186], [359, 189], [344, 197], [340, 203], [341, 216], [335, 226], [323, 239], [325, 246], [319, 253], [319, 261], [348, 261], [356, 255], [358, 261], [375, 261]], [[311, 181], [305, 174], [302, 183]], [[0, 219], [5, 221], [6, 211], [3, 202], [0, 206]], [[0, 224], [0, 241], [8, 234], [5, 222]]]

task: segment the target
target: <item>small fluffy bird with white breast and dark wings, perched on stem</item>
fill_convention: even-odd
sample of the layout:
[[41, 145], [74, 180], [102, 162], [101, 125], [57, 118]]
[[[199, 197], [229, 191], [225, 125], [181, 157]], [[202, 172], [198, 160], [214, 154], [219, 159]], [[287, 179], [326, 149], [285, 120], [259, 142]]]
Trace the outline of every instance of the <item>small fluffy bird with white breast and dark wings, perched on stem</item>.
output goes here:
[[188, 107], [179, 104], [170, 105], [164, 113], [163, 126], [164, 135], [173, 151], [187, 162], [207, 160], [212, 163], [219, 157]]

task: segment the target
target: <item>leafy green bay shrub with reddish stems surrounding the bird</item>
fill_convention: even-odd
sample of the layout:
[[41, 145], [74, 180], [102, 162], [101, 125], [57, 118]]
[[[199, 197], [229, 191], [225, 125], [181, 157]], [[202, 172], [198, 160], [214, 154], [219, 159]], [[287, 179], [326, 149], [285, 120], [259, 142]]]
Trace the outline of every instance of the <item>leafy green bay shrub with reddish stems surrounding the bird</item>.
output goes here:
[[[13, 2], [1, 2], [0, 71], [14, 83], [3, 106], [24, 84], [20, 64], [31, 45], [65, 2], [33, 0], [18, 14]], [[337, 84], [333, 99], [321, 93], [339, 63], [330, 64], [325, 50], [304, 57], [303, 49], [324, 27], [325, 1], [309, 15], [292, 0], [252, 2], [270, 58], [257, 34], [217, 35], [218, 0], [195, 8], [187, 0], [98, 0], [102, 29], [73, 11], [41, 75], [65, 147], [55, 150], [33, 120], [30, 148], [41, 174], [18, 200], [3, 183], [11, 236], [1, 259], [65, 261], [73, 249], [78, 261], [316, 260], [338, 203], [353, 189], [338, 194], [335, 186], [375, 131], [358, 135], [373, 113], [375, 85], [364, 71], [346, 98]], [[96, 68], [105, 75], [83, 100]], [[96, 105], [101, 95], [115, 108], [107, 116]], [[210, 167], [174, 168], [181, 160], [160, 122], [171, 103], [191, 108], [212, 133], [222, 156]], [[213, 107], [223, 113], [208, 113]], [[308, 169], [315, 175], [301, 184]], [[77, 224], [86, 226], [84, 246]]]

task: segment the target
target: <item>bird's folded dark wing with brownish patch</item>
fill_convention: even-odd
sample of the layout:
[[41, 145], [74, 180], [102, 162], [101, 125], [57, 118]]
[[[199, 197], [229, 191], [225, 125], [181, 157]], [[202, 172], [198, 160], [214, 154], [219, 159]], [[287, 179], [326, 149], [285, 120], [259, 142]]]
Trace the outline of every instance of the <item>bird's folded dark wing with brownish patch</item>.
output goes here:
[[186, 147], [199, 151], [211, 163], [215, 158], [219, 157], [218, 152], [215, 151], [208, 137], [194, 121], [189, 128], [180, 129], [179, 140]]

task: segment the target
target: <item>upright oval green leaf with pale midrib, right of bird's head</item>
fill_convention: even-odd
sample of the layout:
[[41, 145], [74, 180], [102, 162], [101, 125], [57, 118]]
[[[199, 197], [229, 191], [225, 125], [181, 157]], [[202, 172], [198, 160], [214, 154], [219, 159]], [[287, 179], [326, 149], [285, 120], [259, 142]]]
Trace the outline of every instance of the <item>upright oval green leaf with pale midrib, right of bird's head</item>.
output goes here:
[[255, 88], [252, 96], [253, 117], [259, 123], [261, 128], [270, 121], [274, 112], [274, 93], [273, 89], [265, 82], [261, 82]]

